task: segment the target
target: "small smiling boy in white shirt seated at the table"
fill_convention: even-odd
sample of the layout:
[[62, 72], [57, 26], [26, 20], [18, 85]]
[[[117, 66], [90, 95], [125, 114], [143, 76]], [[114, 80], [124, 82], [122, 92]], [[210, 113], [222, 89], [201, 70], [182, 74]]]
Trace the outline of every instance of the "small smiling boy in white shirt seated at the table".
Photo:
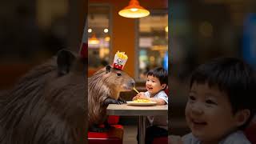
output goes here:
[[[133, 100], [148, 99], [157, 105], [168, 104], [168, 97], [164, 90], [168, 86], [168, 73], [162, 67], [150, 70], [146, 78], [146, 92], [137, 94]], [[165, 117], [148, 117], [150, 127], [146, 129], [146, 144], [153, 142], [155, 137], [167, 136], [167, 115]], [[138, 137], [137, 137], [138, 138]]]

